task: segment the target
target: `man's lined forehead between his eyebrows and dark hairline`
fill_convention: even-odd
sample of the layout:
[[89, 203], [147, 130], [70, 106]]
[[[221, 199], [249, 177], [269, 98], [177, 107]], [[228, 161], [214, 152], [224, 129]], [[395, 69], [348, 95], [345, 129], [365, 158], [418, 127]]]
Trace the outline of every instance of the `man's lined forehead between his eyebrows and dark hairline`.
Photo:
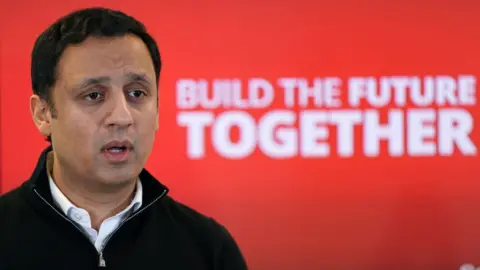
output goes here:
[[143, 73], [152, 81], [155, 69], [143, 41], [132, 35], [112, 38], [89, 37], [68, 46], [57, 65], [58, 81], [74, 84], [85, 77], [120, 78], [127, 73]]

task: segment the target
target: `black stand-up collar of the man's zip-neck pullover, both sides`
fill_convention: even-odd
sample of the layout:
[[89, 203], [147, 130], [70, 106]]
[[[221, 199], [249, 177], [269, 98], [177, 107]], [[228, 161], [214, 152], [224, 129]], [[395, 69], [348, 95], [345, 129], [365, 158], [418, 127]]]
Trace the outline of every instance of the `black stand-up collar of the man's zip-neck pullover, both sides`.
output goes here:
[[[47, 203], [54, 205], [53, 198], [50, 192], [47, 173], [47, 155], [53, 151], [52, 146], [45, 148], [37, 161], [37, 165], [30, 178], [24, 182], [21, 189], [29, 198], [35, 198], [34, 203], [38, 205], [37, 199], [40, 195]], [[143, 169], [139, 175], [143, 186], [143, 205], [138, 211], [156, 202], [159, 198], [165, 197], [169, 192], [168, 187], [160, 183], [153, 175], [146, 169]], [[33, 197], [32, 197], [33, 196]], [[143, 210], [142, 210], [143, 211]]]

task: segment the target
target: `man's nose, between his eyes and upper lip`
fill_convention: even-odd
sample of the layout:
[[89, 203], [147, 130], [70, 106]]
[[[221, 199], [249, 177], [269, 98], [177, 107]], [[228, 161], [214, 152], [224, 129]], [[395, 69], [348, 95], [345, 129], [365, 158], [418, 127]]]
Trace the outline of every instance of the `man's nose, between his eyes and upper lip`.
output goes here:
[[125, 128], [133, 124], [129, 104], [122, 92], [118, 91], [118, 94], [111, 96], [109, 114], [106, 119], [108, 127]]

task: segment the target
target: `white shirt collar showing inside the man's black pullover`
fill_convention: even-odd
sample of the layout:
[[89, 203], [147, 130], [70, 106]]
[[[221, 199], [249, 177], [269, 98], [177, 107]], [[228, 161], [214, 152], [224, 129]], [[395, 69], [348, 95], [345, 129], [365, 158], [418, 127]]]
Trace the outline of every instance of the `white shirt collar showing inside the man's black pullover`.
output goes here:
[[88, 212], [73, 205], [57, 187], [50, 174], [49, 179], [53, 201], [58, 207], [60, 207], [67, 217], [84, 229], [85, 234], [88, 236], [88, 238], [90, 238], [92, 243], [95, 245], [95, 248], [99, 252], [101, 251], [105, 240], [111, 233], [115, 231], [120, 223], [142, 206], [142, 183], [140, 180], [137, 180], [135, 197], [130, 205], [117, 215], [107, 218], [105, 221], [103, 221], [103, 223], [100, 225], [99, 231], [97, 232], [92, 228], [92, 223]]

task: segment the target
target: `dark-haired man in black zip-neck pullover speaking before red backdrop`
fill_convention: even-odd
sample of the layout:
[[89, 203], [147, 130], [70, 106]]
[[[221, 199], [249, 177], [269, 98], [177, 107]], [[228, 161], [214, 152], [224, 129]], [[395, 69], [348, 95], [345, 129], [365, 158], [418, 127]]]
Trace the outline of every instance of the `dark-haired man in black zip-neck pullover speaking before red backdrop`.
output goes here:
[[73, 12], [37, 39], [30, 110], [51, 146], [0, 197], [0, 269], [247, 269], [219, 223], [143, 167], [158, 128], [160, 54], [134, 18]]

